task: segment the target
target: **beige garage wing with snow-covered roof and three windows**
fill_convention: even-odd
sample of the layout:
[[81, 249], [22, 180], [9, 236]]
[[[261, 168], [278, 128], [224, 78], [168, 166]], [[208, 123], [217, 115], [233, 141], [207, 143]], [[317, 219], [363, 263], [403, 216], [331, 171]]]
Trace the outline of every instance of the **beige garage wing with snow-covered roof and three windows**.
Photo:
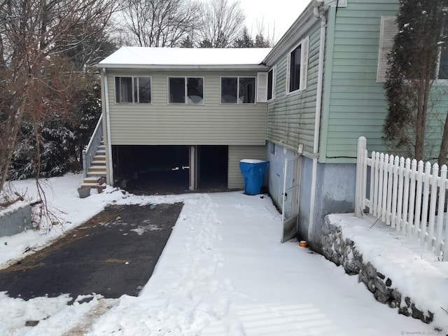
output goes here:
[[104, 147], [85, 183], [242, 188], [239, 160], [266, 156], [267, 52], [123, 47], [99, 62]]

